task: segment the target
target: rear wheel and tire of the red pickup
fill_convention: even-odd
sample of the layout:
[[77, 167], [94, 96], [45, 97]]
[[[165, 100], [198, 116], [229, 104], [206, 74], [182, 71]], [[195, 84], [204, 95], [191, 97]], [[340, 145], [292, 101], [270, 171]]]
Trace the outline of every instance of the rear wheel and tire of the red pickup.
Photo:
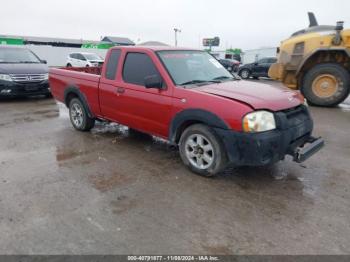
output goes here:
[[[79, 109], [80, 121], [77, 121], [77, 118], [74, 116], [74, 112]], [[78, 131], [90, 131], [95, 126], [95, 119], [90, 118], [87, 114], [86, 108], [83, 103], [78, 98], [73, 98], [69, 102], [69, 118], [73, 127]]]

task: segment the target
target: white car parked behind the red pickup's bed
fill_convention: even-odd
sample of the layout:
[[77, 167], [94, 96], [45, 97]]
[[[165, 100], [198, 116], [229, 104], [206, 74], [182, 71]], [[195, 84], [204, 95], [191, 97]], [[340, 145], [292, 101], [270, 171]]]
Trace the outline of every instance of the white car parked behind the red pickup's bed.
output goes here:
[[103, 59], [94, 53], [71, 53], [67, 57], [67, 67], [98, 67]]

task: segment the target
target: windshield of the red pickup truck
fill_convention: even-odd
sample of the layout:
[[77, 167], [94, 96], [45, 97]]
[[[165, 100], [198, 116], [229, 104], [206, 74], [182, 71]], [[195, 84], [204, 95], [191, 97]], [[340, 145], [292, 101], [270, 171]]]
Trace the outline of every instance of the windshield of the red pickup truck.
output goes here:
[[233, 76], [210, 54], [204, 51], [158, 51], [176, 85], [233, 79]]

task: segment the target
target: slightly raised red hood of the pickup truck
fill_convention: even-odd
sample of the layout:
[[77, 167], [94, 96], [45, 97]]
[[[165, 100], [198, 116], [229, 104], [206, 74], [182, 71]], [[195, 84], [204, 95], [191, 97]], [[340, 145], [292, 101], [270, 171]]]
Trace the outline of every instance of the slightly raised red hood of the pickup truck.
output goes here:
[[205, 85], [194, 90], [240, 101], [255, 110], [280, 111], [304, 102], [302, 95], [297, 91], [245, 80]]

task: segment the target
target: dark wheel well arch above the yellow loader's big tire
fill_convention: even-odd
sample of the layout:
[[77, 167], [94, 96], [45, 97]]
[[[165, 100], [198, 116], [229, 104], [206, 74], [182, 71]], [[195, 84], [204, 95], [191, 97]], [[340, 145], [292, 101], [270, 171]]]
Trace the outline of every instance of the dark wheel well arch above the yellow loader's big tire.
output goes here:
[[336, 63], [350, 72], [350, 57], [344, 50], [325, 50], [311, 55], [301, 67], [298, 73], [299, 86], [305, 74], [315, 65], [323, 63]]

